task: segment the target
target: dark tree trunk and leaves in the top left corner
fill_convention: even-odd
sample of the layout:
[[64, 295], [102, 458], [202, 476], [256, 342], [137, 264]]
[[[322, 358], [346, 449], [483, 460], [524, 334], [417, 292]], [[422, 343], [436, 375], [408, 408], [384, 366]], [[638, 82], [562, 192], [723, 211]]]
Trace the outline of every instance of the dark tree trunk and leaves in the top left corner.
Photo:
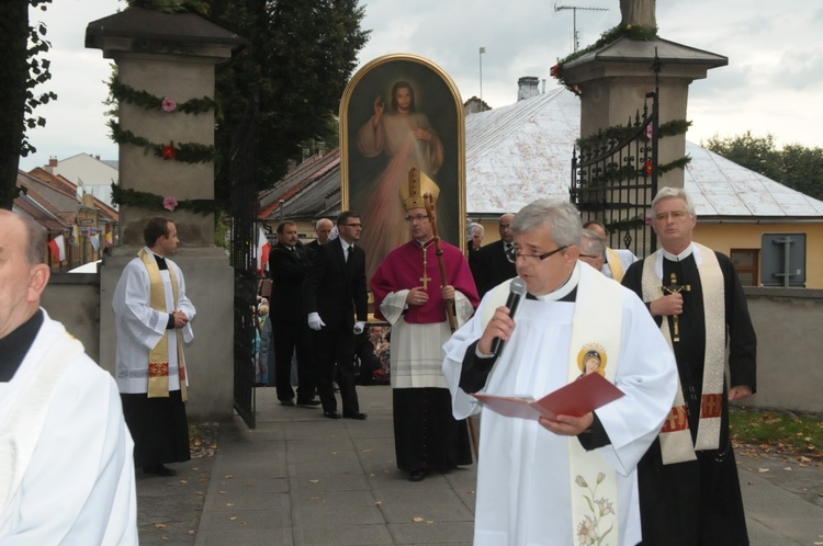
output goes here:
[[53, 92], [34, 94], [34, 88], [48, 81], [46, 26], [29, 25], [29, 7], [46, 8], [52, 0], [0, 1], [0, 207], [10, 209], [16, 196], [20, 157], [36, 151], [26, 138], [26, 128], [44, 126], [34, 109], [57, 99]]

